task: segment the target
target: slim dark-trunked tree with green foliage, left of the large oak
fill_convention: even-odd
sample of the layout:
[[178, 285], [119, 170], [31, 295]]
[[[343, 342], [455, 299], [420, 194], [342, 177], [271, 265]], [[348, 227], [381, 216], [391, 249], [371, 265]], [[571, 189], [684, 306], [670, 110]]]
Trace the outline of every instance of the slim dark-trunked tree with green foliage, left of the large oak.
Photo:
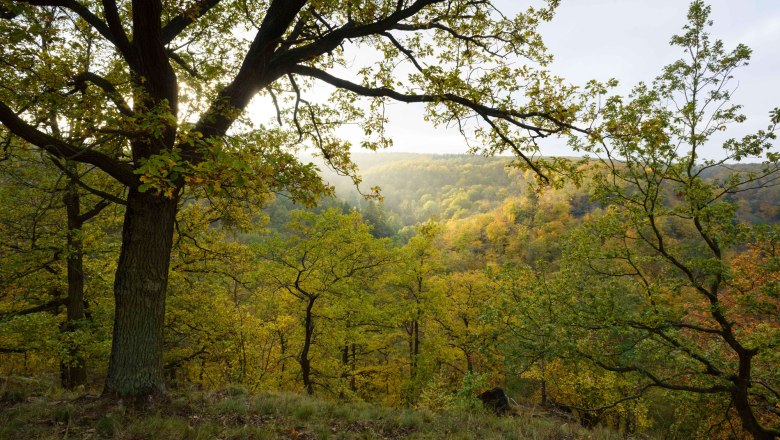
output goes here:
[[[52, 356], [49, 346], [45, 356], [61, 361], [62, 386], [75, 388], [87, 378], [83, 348], [89, 341], [83, 340], [87, 332], [82, 331], [88, 327], [84, 260], [86, 253], [96, 250], [85, 249], [83, 227], [111, 202], [102, 196], [95, 200], [87, 191], [94, 190], [94, 176], [75, 162], [15, 144], [8, 145], [6, 153], [0, 164], [2, 194], [9, 201], [0, 213], [4, 237], [0, 289], [20, 293], [6, 298], [9, 310], [0, 313], [0, 324], [35, 313], [54, 318], [64, 308], [64, 320], [58, 319], [59, 341], [54, 344], [57, 355]], [[15, 350], [24, 351], [21, 347], [10, 351]]]

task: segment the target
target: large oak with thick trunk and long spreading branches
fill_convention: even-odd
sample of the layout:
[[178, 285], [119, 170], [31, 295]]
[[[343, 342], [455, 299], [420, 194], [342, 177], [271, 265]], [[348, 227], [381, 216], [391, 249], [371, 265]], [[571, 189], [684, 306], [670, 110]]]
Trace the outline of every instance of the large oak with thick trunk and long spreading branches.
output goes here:
[[[105, 394], [164, 389], [165, 292], [185, 188], [285, 188], [311, 200], [327, 189], [288, 150], [314, 146], [354, 174], [334, 130], [357, 121], [364, 146], [386, 145], [387, 101], [426, 104], [434, 123], [456, 122], [487, 152], [511, 149], [542, 172], [529, 153], [567, 131], [576, 110], [566, 102], [573, 89], [534, 68], [549, 61], [536, 27], [556, 3], [509, 18], [467, 0], [0, 2], [1, 136], [127, 188]], [[382, 61], [353, 71], [359, 82], [335, 75], [366, 48]], [[304, 97], [313, 82], [336, 89], [327, 104]], [[278, 128], [242, 119], [259, 94], [277, 109]], [[40, 118], [51, 109], [93, 130], [54, 132]]]

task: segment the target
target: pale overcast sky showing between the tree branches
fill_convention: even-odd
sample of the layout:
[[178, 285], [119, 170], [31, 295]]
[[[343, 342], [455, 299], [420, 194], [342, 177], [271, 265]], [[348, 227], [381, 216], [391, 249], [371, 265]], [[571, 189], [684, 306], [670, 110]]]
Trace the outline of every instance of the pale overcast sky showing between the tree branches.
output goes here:
[[[526, 0], [497, 0], [508, 13], [525, 8]], [[765, 128], [768, 113], [780, 107], [780, 0], [710, 0], [713, 38], [727, 49], [737, 43], [753, 49], [751, 62], [736, 72], [734, 102], [743, 104], [748, 122], [740, 136]], [[540, 33], [555, 56], [553, 73], [574, 84], [590, 79], [617, 78], [619, 92], [639, 81], [651, 82], [661, 69], [682, 56], [669, 46], [686, 23], [687, 0], [561, 0], [555, 18]], [[419, 105], [396, 104], [388, 109], [393, 152], [464, 153], [466, 144], [455, 129], [433, 128], [423, 121]], [[357, 140], [353, 140], [358, 143]], [[543, 154], [571, 154], [551, 140]], [[705, 154], [707, 154], [705, 152]], [[717, 149], [712, 153], [717, 155]]]

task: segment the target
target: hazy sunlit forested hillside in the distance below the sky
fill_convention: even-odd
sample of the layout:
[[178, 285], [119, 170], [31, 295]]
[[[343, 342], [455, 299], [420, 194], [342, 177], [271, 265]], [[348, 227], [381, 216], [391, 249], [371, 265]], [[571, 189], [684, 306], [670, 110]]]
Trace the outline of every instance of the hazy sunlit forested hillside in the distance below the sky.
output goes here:
[[[341, 177], [320, 165], [323, 178], [336, 187], [337, 199], [357, 206], [376, 228], [398, 231], [430, 219], [457, 220], [475, 214], [485, 214], [512, 199], [527, 199], [536, 187], [533, 175], [512, 166], [507, 157], [468, 155], [422, 155], [412, 153], [358, 153], [355, 163], [363, 182], [358, 188], [352, 180]], [[576, 161], [577, 159], [572, 159]], [[736, 169], [746, 174], [760, 175], [761, 164], [723, 164], [704, 170], [706, 181], [727, 178]], [[361, 193], [366, 188], [379, 187], [382, 203], [367, 201]], [[571, 215], [581, 218], [597, 209], [591, 200], [588, 185], [569, 184], [562, 190], [542, 191], [537, 195], [565, 200]], [[780, 186], [759, 180], [753, 191], [730, 194], [729, 202], [737, 206], [741, 221], [758, 224], [780, 222]]]

